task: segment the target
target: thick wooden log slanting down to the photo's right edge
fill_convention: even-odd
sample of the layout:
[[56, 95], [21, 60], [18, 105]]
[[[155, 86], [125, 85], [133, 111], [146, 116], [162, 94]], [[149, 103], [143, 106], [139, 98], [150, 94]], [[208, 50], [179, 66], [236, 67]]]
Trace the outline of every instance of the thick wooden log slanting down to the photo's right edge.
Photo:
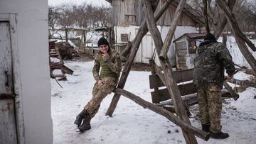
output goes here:
[[[238, 43], [238, 48], [240, 48], [242, 55], [245, 56], [245, 59], [247, 60], [249, 65], [252, 67], [252, 70], [256, 73], [255, 57], [253, 57], [252, 53], [250, 52], [250, 50], [248, 50], [247, 46], [245, 45], [244, 38], [241, 38], [243, 33], [240, 31], [238, 22], [235, 20], [235, 17], [233, 15], [232, 11], [230, 11], [230, 9], [228, 9], [228, 4], [226, 4], [225, 1], [216, 0], [216, 2], [220, 6], [220, 9], [222, 9], [224, 11], [226, 18], [228, 18], [231, 30], [235, 35], [236, 42]], [[246, 36], [245, 36], [245, 38], [246, 38]]]

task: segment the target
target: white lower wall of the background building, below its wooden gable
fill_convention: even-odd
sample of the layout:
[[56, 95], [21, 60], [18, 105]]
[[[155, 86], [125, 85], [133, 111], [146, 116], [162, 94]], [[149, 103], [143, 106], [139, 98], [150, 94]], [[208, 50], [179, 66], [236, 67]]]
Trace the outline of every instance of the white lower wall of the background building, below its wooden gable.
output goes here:
[[[161, 33], [161, 38], [164, 42], [164, 39], [166, 38], [166, 35], [169, 31], [170, 26], [158, 26], [159, 31]], [[139, 29], [139, 26], [115, 26], [114, 27], [114, 31], [117, 35], [115, 35], [115, 38], [117, 40], [117, 43], [123, 43], [121, 41], [121, 33], [127, 33], [128, 35], [130, 35], [128, 38], [130, 41], [132, 41], [136, 34], [137, 31]], [[195, 33], [196, 32], [196, 28], [192, 27], [192, 26], [177, 26], [176, 27], [176, 31], [174, 34], [174, 38], [173, 40], [175, 40], [176, 38], [180, 37], [181, 35], [183, 35], [184, 33]], [[150, 46], [151, 45], [151, 46]], [[173, 43], [171, 43], [171, 46], [169, 48], [169, 52], [168, 52], [168, 57], [169, 59], [172, 61], [174, 61], [175, 59], [175, 53], [174, 53], [174, 48], [175, 46], [173, 45]], [[150, 33], [146, 33], [146, 35], [144, 36], [144, 38], [142, 39], [142, 43], [139, 45], [139, 50], [137, 52], [137, 55], [134, 59], [134, 62], [142, 62], [142, 63], [149, 63], [149, 57], [151, 57], [151, 55], [154, 52], [154, 41], [151, 38]], [[159, 65], [159, 59], [158, 56], [156, 55], [156, 64]]]

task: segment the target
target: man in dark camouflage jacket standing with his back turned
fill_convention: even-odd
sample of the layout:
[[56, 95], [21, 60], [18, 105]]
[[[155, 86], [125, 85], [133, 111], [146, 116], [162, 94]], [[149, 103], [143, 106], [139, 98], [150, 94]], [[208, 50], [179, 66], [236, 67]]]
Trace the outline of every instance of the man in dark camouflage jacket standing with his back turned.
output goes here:
[[224, 68], [228, 79], [235, 73], [234, 63], [228, 49], [208, 33], [203, 43], [196, 50], [194, 60], [193, 83], [198, 92], [199, 118], [202, 130], [210, 132], [211, 138], [228, 138], [228, 133], [221, 131], [221, 89], [224, 81]]

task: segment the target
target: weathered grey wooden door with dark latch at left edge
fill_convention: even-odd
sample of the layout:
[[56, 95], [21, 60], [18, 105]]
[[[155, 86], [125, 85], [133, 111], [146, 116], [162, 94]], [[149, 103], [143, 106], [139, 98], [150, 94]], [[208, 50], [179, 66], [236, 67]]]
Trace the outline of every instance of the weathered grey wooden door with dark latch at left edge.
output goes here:
[[9, 21], [0, 21], [0, 33], [0, 143], [18, 143]]

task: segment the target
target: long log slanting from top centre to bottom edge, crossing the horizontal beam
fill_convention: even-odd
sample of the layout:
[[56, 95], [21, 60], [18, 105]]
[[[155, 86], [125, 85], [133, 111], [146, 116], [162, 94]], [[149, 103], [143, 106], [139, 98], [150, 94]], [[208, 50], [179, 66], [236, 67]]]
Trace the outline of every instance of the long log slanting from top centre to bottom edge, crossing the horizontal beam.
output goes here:
[[[180, 4], [184, 5], [185, 3], [183, 3], [183, 0], [181, 0]], [[181, 6], [181, 7], [183, 7], [183, 6]], [[158, 28], [156, 27], [156, 23], [154, 22], [154, 13], [151, 9], [151, 4], [147, 0], [144, 0], [144, 13], [146, 16], [146, 25], [149, 28], [149, 31], [154, 40], [154, 44], [156, 46], [156, 52], [160, 55], [160, 53], [162, 52], [161, 48], [163, 47], [163, 41], [161, 40], [161, 34], [160, 34]], [[167, 42], [167, 43], [169, 43], [169, 42]], [[173, 79], [172, 71], [171, 71], [171, 64], [170, 64], [168, 58], [166, 58], [164, 60], [160, 59], [160, 64], [164, 71], [164, 79], [166, 82], [166, 88], [169, 90], [171, 99], [174, 100], [174, 108], [175, 108], [177, 116], [179, 116], [188, 125], [189, 124], [191, 125], [191, 123], [188, 119], [188, 115], [186, 113], [185, 106], [181, 99], [181, 94], [178, 90], [178, 85], [176, 84], [176, 82]], [[183, 130], [183, 136], [186, 140], [186, 143], [193, 143], [193, 144], [197, 143], [196, 138], [193, 134], [188, 133], [187, 131]]]

